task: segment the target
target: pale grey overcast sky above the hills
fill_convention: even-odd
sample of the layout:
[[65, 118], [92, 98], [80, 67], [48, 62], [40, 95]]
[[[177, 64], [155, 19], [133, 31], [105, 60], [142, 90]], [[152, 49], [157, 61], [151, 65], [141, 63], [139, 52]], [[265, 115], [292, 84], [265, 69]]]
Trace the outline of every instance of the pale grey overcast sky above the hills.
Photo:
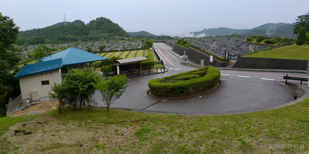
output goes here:
[[106, 17], [127, 32], [179, 34], [209, 28], [251, 29], [265, 23], [295, 22], [309, 10], [309, 0], [0, 0], [0, 12], [20, 30], [63, 21], [88, 23]]

